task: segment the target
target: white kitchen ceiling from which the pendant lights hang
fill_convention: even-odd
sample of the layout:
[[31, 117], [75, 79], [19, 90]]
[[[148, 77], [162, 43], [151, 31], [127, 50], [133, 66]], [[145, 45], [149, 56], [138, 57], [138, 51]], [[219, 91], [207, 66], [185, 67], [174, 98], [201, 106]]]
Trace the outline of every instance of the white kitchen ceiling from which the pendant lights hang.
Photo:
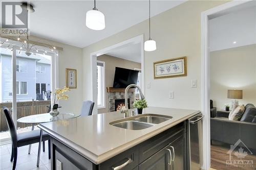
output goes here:
[[[20, 1], [20, 0], [18, 0]], [[152, 1], [152, 16], [185, 1]], [[105, 15], [106, 28], [93, 31], [86, 27], [86, 12], [93, 1], [35, 1], [30, 3], [31, 34], [78, 47], [85, 47], [125, 30], [148, 18], [148, 1], [96, 1]]]

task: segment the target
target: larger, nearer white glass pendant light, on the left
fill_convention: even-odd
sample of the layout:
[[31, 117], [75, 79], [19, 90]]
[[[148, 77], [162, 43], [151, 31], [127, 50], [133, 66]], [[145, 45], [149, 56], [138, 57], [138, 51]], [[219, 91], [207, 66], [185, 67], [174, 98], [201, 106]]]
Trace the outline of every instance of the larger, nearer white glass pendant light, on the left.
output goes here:
[[94, 0], [94, 8], [86, 13], [86, 26], [92, 30], [103, 30], [105, 28], [105, 16], [96, 8]]

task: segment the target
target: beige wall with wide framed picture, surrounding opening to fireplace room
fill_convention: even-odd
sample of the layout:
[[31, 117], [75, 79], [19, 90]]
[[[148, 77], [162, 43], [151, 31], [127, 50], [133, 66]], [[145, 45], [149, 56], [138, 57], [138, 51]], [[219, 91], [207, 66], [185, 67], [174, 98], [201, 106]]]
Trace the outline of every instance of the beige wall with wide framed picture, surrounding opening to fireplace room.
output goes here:
[[[144, 53], [145, 98], [148, 106], [201, 110], [201, 13], [227, 1], [188, 1], [152, 17], [152, 39], [157, 50]], [[92, 99], [90, 54], [118, 42], [144, 34], [148, 39], [148, 20], [83, 48], [83, 99]], [[187, 56], [187, 77], [154, 80], [153, 62]], [[198, 80], [191, 88], [190, 81]], [[174, 91], [174, 99], [168, 92]]]

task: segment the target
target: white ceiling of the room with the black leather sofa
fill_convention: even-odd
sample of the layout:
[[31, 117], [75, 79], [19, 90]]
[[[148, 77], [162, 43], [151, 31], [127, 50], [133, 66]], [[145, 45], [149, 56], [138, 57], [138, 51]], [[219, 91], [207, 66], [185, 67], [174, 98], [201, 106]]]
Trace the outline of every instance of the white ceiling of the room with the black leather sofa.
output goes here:
[[210, 51], [256, 43], [256, 2], [245, 5], [209, 20]]

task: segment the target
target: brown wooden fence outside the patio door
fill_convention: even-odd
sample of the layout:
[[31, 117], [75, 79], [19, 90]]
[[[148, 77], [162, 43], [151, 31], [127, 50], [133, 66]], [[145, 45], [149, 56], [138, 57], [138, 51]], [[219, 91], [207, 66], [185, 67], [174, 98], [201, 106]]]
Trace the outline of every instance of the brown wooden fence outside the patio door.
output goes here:
[[[51, 101], [30, 101], [30, 102], [17, 102], [17, 119], [24, 116], [33, 114], [47, 113]], [[0, 103], [0, 132], [8, 130], [8, 125], [4, 115], [3, 107], [9, 108], [11, 111], [12, 103]], [[17, 123], [17, 128], [25, 128], [32, 126], [31, 124]]]

